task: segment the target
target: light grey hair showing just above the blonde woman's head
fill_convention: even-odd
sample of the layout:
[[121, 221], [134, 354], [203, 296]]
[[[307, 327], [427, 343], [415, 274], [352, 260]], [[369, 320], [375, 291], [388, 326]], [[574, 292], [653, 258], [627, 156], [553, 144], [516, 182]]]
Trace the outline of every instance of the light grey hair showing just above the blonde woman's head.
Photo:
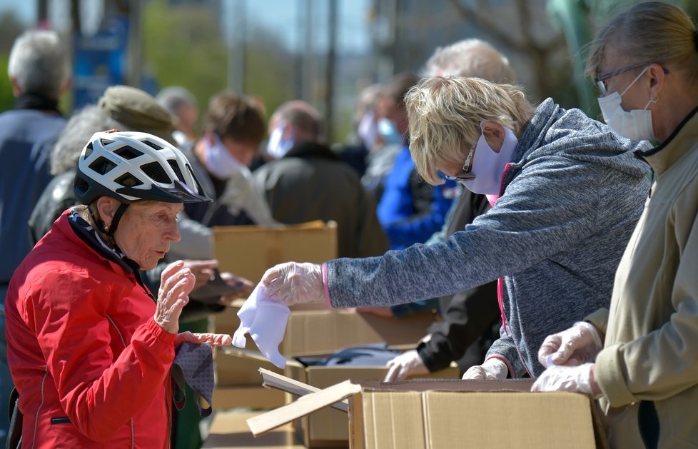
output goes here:
[[475, 76], [492, 83], [514, 83], [509, 60], [480, 39], [463, 39], [438, 47], [422, 70], [422, 76]]

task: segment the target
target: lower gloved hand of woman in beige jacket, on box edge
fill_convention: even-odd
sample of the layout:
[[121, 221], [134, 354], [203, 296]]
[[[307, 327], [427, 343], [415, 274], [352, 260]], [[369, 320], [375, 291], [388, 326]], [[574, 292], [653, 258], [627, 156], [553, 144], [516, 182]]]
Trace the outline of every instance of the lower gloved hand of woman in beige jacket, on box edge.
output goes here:
[[594, 363], [547, 368], [535, 381], [531, 391], [571, 391], [593, 396], [601, 394]]

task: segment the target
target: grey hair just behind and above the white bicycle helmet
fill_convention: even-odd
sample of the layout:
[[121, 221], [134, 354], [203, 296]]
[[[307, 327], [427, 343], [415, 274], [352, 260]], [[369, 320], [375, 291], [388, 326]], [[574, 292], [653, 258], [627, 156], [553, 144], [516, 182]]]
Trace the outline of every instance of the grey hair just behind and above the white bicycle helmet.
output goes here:
[[51, 150], [51, 174], [58, 175], [75, 168], [85, 142], [90, 141], [96, 131], [108, 129], [129, 131], [96, 105], [85, 106], [74, 113]]

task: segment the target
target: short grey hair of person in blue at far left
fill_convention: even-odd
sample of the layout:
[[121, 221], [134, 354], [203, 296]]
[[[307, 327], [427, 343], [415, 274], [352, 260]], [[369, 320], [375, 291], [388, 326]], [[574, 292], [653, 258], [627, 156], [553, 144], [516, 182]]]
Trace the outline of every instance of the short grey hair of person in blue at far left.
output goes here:
[[58, 99], [70, 77], [68, 50], [56, 31], [25, 31], [12, 45], [7, 74], [24, 94]]

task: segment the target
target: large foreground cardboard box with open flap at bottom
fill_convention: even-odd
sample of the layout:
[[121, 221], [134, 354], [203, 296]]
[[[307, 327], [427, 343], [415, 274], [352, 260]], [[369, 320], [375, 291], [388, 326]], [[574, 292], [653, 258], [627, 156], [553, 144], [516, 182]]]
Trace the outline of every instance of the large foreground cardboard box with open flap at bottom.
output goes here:
[[[286, 379], [263, 375], [288, 390]], [[531, 393], [532, 380], [347, 380], [248, 419], [253, 435], [349, 399], [350, 448], [607, 448], [596, 405], [579, 393]]]

